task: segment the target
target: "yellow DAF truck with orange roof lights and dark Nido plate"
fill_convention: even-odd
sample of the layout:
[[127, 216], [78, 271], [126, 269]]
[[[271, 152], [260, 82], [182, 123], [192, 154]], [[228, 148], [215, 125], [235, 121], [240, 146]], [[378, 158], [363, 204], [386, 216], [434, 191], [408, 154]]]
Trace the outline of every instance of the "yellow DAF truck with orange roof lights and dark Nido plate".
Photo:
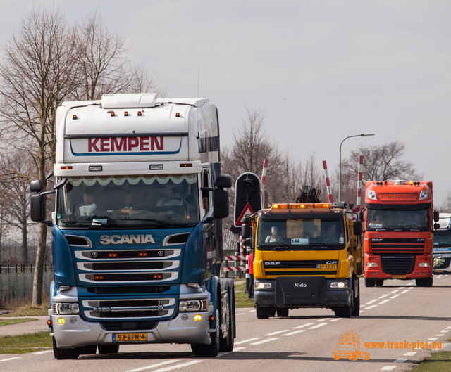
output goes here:
[[242, 235], [254, 248], [258, 319], [303, 307], [359, 315], [362, 222], [345, 203], [273, 204], [247, 223]]

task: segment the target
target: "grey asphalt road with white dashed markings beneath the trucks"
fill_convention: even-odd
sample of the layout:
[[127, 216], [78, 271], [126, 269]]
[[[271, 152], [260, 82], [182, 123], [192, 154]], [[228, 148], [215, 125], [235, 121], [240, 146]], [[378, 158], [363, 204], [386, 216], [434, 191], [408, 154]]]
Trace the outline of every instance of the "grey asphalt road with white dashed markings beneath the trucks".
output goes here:
[[[297, 309], [287, 318], [259, 320], [254, 309], [237, 309], [235, 349], [217, 358], [194, 357], [189, 345], [121, 345], [116, 355], [70, 361], [56, 361], [51, 351], [0, 355], [0, 370], [408, 371], [431, 354], [432, 349], [425, 348], [430, 342], [450, 349], [451, 276], [435, 276], [432, 288], [417, 288], [413, 281], [365, 288], [361, 280], [361, 290], [361, 315], [350, 319], [337, 318], [328, 309]], [[333, 359], [345, 332], [359, 338], [362, 354], [355, 361], [342, 354], [343, 359]]]

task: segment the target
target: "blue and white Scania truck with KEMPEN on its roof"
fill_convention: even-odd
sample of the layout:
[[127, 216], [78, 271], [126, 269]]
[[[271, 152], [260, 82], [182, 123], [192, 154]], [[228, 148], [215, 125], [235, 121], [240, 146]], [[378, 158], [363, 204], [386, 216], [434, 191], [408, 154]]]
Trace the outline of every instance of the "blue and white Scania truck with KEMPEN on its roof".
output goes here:
[[[220, 278], [216, 106], [206, 98], [111, 94], [56, 112], [54, 190], [32, 181], [31, 215], [51, 226], [49, 326], [56, 359], [119, 345], [233, 350], [235, 290]], [[45, 200], [55, 193], [51, 219]]]

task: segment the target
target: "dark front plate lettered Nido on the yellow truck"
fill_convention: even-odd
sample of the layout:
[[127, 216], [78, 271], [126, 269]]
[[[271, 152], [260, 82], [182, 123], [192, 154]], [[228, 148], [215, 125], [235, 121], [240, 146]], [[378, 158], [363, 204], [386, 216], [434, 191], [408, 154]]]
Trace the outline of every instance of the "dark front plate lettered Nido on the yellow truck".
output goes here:
[[276, 278], [276, 304], [325, 304], [326, 278], [280, 276]]

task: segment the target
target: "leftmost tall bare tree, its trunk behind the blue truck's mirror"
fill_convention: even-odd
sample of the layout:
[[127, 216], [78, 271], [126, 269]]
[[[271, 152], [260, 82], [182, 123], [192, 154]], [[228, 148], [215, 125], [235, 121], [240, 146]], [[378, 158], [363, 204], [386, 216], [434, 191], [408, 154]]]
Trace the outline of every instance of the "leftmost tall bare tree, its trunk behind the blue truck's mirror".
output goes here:
[[[78, 50], [75, 34], [58, 11], [34, 11], [12, 35], [0, 63], [2, 132], [12, 147], [29, 153], [39, 178], [54, 159], [55, 108], [74, 91]], [[17, 139], [22, 139], [18, 141]], [[27, 179], [18, 169], [18, 177]], [[47, 226], [39, 226], [33, 305], [42, 303]]]

